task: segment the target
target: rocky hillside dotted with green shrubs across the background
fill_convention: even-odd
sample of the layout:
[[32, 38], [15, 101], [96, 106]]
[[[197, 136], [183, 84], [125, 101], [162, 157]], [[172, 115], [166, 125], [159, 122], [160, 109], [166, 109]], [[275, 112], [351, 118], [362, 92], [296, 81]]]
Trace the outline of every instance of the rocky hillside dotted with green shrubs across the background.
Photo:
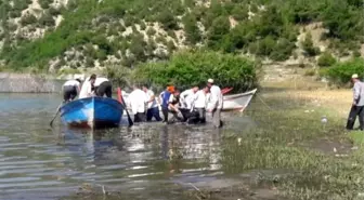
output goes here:
[[181, 49], [263, 59], [361, 56], [362, 0], [2, 0], [1, 68], [134, 67]]

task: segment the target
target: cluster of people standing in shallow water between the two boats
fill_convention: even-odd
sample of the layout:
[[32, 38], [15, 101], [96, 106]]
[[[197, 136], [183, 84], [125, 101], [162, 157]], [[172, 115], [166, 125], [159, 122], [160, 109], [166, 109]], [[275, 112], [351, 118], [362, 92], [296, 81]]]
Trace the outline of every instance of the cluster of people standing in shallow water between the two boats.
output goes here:
[[[128, 98], [134, 122], [152, 121], [155, 118], [156, 121], [166, 123], [176, 121], [205, 123], [208, 111], [212, 114], [213, 125], [222, 126], [223, 97], [220, 88], [213, 84], [212, 79], [209, 79], [203, 88], [195, 85], [182, 93], [173, 85], [168, 85], [158, 96], [147, 85], [133, 85]], [[164, 119], [159, 115], [159, 107]], [[172, 115], [171, 119], [169, 115]]]

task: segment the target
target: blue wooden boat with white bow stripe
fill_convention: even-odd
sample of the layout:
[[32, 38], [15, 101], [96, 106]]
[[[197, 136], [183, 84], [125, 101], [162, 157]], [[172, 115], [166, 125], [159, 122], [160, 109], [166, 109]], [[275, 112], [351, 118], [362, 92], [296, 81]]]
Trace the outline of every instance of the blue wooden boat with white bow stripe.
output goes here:
[[60, 108], [61, 120], [76, 128], [112, 128], [118, 126], [123, 107], [114, 99], [106, 97], [88, 97], [69, 102]]

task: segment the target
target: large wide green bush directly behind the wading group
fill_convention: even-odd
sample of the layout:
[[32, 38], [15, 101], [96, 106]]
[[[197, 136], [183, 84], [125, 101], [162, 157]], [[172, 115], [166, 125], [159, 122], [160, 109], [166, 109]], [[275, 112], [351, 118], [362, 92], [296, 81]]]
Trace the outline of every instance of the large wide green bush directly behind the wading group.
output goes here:
[[164, 86], [169, 83], [182, 88], [205, 85], [213, 78], [221, 86], [235, 92], [256, 86], [256, 66], [247, 58], [216, 52], [180, 52], [168, 62], [147, 63], [133, 71], [133, 80]]

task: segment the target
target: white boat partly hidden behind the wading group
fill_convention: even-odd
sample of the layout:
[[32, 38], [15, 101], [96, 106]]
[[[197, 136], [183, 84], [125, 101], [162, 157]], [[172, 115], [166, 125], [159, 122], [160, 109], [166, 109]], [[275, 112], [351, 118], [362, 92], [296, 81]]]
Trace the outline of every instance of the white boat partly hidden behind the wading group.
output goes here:
[[257, 89], [240, 93], [240, 94], [232, 94], [223, 96], [223, 111], [244, 111], [246, 107], [248, 107], [252, 96], [256, 94]]

